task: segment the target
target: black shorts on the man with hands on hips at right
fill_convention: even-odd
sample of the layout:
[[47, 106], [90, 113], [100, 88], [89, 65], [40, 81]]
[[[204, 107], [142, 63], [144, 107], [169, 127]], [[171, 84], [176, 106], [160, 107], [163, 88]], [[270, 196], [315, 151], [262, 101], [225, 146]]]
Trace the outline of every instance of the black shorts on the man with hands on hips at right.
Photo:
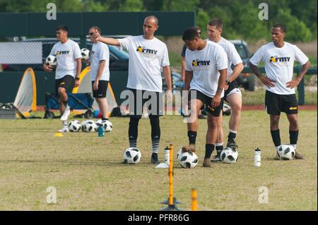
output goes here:
[[298, 103], [295, 94], [277, 95], [266, 90], [265, 107], [267, 114], [280, 115], [281, 111], [285, 114], [298, 114]]

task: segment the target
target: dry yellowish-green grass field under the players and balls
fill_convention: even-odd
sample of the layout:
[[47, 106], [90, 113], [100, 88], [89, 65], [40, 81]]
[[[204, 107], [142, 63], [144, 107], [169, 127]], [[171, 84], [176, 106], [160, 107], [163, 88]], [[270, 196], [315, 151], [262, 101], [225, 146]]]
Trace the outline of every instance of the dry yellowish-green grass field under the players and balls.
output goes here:
[[[236, 164], [203, 168], [206, 121], [199, 121], [195, 169], [182, 169], [175, 159], [175, 197], [191, 209], [197, 188], [199, 210], [317, 210], [317, 111], [300, 111], [298, 151], [305, 160], [276, 161], [265, 111], [243, 111], [237, 136]], [[228, 133], [225, 117], [224, 128]], [[54, 137], [58, 119], [0, 121], [0, 210], [158, 210], [168, 197], [167, 169], [150, 164], [148, 119], [139, 126], [142, 160], [124, 165], [128, 118], [112, 118], [105, 138], [97, 133]], [[187, 144], [181, 116], [161, 118], [160, 157], [172, 143], [175, 154]], [[288, 121], [281, 118], [282, 142], [289, 142]], [[261, 149], [261, 167], [254, 167], [254, 149]], [[48, 186], [57, 189], [57, 203], [47, 204]], [[258, 201], [259, 187], [269, 188], [269, 203]]]

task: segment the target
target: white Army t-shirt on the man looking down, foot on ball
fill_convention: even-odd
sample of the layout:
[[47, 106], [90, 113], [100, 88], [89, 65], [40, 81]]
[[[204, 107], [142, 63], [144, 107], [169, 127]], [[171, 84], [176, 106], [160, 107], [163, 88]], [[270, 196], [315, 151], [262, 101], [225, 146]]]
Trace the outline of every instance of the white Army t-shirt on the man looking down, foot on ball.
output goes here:
[[[218, 71], [228, 68], [228, 56], [219, 44], [206, 42], [201, 50], [186, 51], [186, 71], [193, 71], [190, 90], [199, 90], [208, 97], [214, 97], [218, 90]], [[224, 96], [224, 90], [221, 97]]]

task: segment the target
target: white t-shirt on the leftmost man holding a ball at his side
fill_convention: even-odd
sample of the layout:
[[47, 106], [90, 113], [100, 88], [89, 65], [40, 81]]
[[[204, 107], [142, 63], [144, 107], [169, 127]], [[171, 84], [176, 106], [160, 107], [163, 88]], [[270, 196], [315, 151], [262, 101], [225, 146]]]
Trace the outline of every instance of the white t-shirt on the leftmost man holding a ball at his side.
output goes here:
[[76, 59], [82, 58], [81, 49], [76, 42], [68, 39], [62, 44], [57, 42], [52, 47], [50, 55], [57, 56], [57, 70], [55, 79], [63, 78], [65, 75], [76, 75]]

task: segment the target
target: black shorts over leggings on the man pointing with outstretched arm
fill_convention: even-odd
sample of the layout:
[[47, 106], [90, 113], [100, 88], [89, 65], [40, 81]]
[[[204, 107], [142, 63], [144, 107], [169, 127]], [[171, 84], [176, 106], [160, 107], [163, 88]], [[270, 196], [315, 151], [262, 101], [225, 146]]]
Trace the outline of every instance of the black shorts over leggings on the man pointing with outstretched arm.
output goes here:
[[[129, 88], [129, 115], [141, 118], [146, 103], [148, 116], [163, 116], [163, 93]], [[132, 95], [132, 96], [131, 96]]]

